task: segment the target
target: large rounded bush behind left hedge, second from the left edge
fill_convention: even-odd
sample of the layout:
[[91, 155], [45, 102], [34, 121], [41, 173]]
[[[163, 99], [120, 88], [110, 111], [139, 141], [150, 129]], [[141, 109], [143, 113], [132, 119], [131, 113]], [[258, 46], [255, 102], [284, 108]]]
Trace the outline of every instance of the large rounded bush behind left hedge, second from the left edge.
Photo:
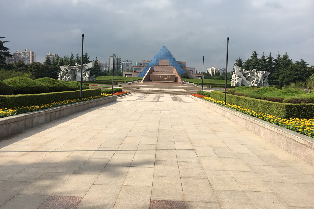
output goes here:
[[9, 78], [3, 82], [11, 86], [13, 94], [40, 94], [49, 92], [46, 85], [26, 77]]

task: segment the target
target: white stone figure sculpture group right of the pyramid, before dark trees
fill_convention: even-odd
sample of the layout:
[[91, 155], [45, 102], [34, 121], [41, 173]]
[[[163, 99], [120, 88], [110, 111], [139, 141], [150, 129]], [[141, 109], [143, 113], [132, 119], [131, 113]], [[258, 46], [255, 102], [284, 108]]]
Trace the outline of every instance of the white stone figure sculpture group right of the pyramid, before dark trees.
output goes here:
[[246, 71], [241, 67], [235, 66], [235, 71], [232, 74], [231, 86], [269, 86], [267, 71]]

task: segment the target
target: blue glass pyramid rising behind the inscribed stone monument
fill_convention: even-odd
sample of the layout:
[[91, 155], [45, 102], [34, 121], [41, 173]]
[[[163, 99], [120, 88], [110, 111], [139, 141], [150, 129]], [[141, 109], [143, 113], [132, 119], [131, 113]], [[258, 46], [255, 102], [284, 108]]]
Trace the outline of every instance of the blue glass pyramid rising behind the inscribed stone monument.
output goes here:
[[173, 65], [173, 68], [176, 68], [179, 72], [179, 75], [184, 73], [182, 67], [179, 65], [179, 63], [176, 61], [176, 59], [172, 56], [170, 51], [167, 49], [167, 47], [164, 45], [161, 47], [159, 52], [154, 56], [154, 58], [146, 65], [144, 70], [138, 75], [138, 77], [144, 77], [148, 69], [151, 67], [154, 70], [154, 65], [158, 65], [159, 60], [169, 60], [169, 65]]

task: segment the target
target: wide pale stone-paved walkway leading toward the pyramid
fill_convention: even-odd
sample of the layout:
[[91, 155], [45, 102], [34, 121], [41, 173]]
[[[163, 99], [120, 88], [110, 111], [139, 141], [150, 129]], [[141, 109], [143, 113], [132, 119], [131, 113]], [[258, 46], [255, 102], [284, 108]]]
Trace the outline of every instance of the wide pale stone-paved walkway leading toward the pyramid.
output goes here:
[[186, 95], [131, 94], [1, 141], [1, 208], [313, 208], [314, 168]]

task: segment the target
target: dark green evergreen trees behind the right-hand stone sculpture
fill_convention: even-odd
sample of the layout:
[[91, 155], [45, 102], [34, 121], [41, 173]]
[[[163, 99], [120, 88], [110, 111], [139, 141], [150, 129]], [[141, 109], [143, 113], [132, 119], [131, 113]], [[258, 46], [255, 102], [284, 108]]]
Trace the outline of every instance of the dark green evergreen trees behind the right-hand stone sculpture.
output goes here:
[[253, 51], [250, 58], [246, 60], [240, 57], [236, 60], [234, 66], [241, 67], [245, 70], [267, 71], [270, 72], [268, 76], [270, 85], [285, 86], [291, 83], [306, 82], [308, 79], [314, 79], [314, 66], [308, 66], [303, 59], [300, 61], [292, 61], [289, 58], [287, 52], [284, 55], [278, 54], [273, 57], [271, 53], [269, 56], [265, 56], [263, 52], [262, 56], [258, 58], [256, 50]]

